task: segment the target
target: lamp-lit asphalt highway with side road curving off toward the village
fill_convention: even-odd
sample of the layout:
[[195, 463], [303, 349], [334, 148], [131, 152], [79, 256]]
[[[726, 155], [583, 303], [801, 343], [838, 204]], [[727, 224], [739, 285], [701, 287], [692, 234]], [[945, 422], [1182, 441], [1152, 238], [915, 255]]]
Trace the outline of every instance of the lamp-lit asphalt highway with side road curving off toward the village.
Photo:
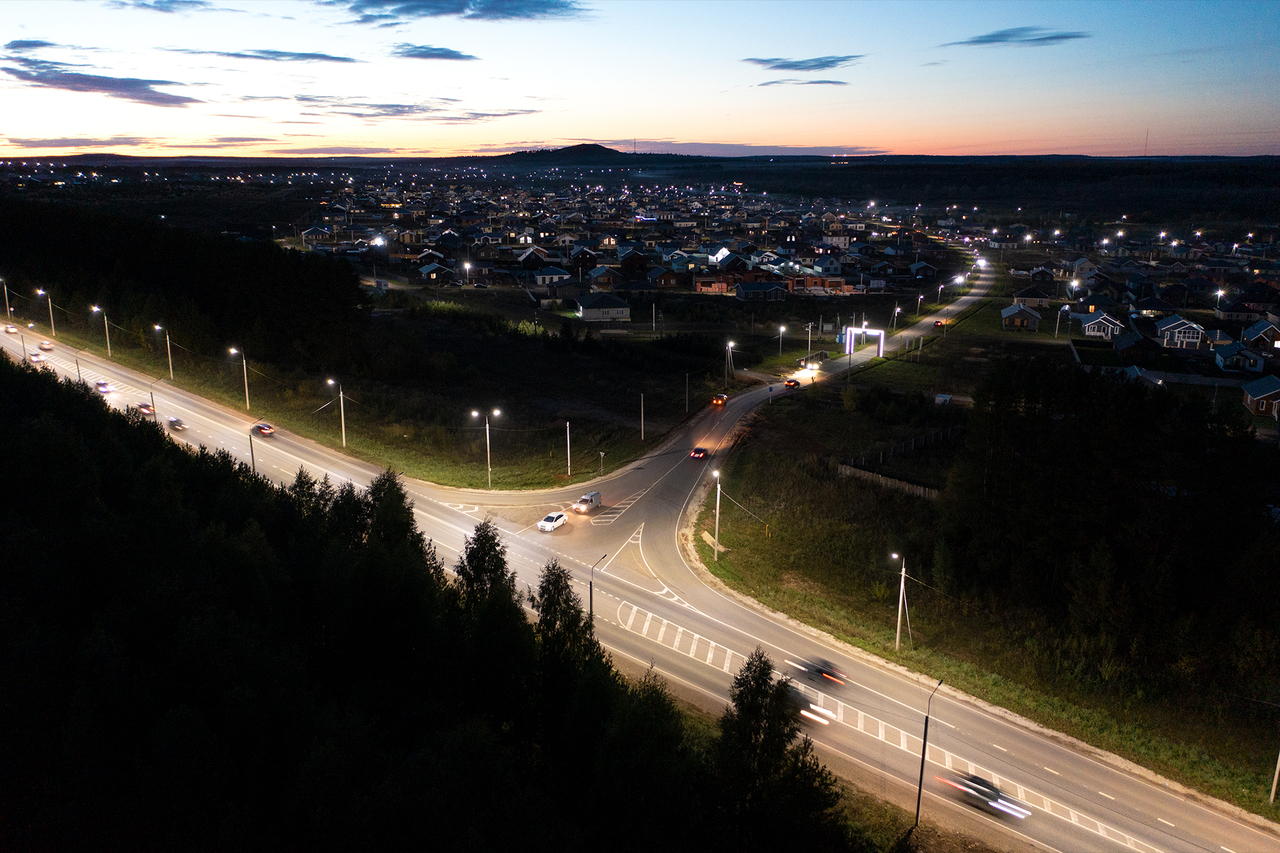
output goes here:
[[[983, 275], [975, 293], [989, 284]], [[951, 316], [963, 297], [947, 306]], [[933, 330], [934, 316], [923, 318], [902, 336]], [[27, 332], [24, 329], [24, 332]], [[38, 339], [27, 333], [27, 348]], [[18, 336], [0, 334], [0, 345], [20, 357]], [[865, 361], [872, 348], [852, 356]], [[250, 461], [251, 412], [211, 403], [152, 382], [86, 353], [46, 353], [60, 375], [79, 375], [91, 386], [114, 386], [105, 394], [118, 409], [151, 400], [156, 418], [180, 418], [188, 429], [170, 433], [193, 446], [223, 448]], [[849, 366], [842, 356], [827, 362], [818, 380]], [[817, 710], [806, 733], [833, 768], [874, 775], [897, 800], [914, 803], [920, 772], [925, 703], [936, 681], [888, 665], [859, 649], [772, 613], [727, 590], [698, 565], [689, 547], [691, 515], [714, 491], [719, 461], [731, 452], [744, 419], [771, 396], [794, 393], [781, 383], [732, 396], [724, 406], [708, 406], [691, 424], [655, 446], [643, 459], [589, 485], [536, 492], [453, 489], [404, 479], [415, 501], [419, 526], [442, 558], [452, 565], [477, 521], [493, 517], [503, 532], [508, 561], [521, 585], [534, 587], [552, 558], [575, 573], [584, 603], [590, 602], [596, 635], [620, 665], [632, 671], [655, 667], [682, 694], [701, 698], [710, 708], [727, 702], [730, 683], [756, 647], [774, 666], [796, 678]], [[276, 424], [279, 428], [279, 424]], [[707, 459], [689, 451], [710, 450]], [[278, 429], [253, 437], [256, 470], [279, 483], [292, 482], [305, 467], [316, 476], [365, 487], [380, 471], [365, 462]], [[731, 492], [731, 485], [726, 484]], [[570, 511], [570, 521], [553, 533], [539, 533], [547, 512], [568, 510], [584, 492], [596, 489], [603, 506], [590, 515]], [[593, 571], [594, 566], [594, 571]], [[818, 684], [806, 676], [806, 662], [828, 660], [847, 674], [847, 683]], [[993, 780], [1027, 806], [1025, 820], [1000, 817], [961, 803], [938, 780], [948, 772]], [[968, 826], [1000, 847], [1028, 850], [1215, 850], [1280, 853], [1280, 827], [1238, 813], [1207, 797], [1183, 792], [1120, 760], [1044, 731], [998, 708], [991, 708], [943, 685], [932, 701], [922, 820]]]

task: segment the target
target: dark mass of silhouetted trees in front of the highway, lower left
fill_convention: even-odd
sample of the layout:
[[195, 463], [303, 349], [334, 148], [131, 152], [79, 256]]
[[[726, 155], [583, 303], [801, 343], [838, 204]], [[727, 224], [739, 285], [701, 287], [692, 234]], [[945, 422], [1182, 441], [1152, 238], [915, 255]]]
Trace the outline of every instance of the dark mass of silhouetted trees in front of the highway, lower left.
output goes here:
[[275, 488], [6, 361], [0, 407], [0, 847], [854, 844], [763, 654], [698, 735], [558, 564], [532, 622], [492, 523], [451, 578], [390, 473]]

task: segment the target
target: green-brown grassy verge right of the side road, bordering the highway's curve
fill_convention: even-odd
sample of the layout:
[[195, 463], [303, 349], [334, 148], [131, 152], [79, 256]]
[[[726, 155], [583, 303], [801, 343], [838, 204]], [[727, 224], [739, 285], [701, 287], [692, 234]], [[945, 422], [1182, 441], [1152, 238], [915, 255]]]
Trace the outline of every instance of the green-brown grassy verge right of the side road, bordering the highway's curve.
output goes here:
[[[1002, 302], [1001, 302], [1002, 304]], [[1051, 346], [1052, 330], [997, 336], [998, 305], [983, 304], [911, 357], [877, 361], [852, 383], [933, 393], [969, 393], [996, 355]], [[1062, 343], [1060, 337], [1059, 343]], [[1053, 350], [1047, 350], [1053, 352]], [[1065, 346], [1057, 355], [1069, 359]], [[941, 678], [960, 690], [1114, 752], [1213, 797], [1272, 820], [1267, 804], [1275, 731], [1263, 720], [1222, 725], [1211, 702], [1114, 695], [1083, 686], [1036, 642], [1030, 613], [992, 613], [910, 585], [914, 637], [893, 652], [896, 561], [891, 552], [931, 553], [932, 503], [836, 475], [833, 459], [855, 457], [940, 425], [901, 411], [877, 418], [846, 411], [842, 387], [805, 387], [762, 410], [723, 465], [719, 561], [696, 538], [704, 565], [735, 589], [886, 660]], [[928, 397], [927, 397], [928, 398]], [[925, 400], [927, 400], [925, 398]], [[919, 411], [919, 410], [915, 410]], [[895, 423], [896, 421], [896, 423]], [[942, 488], [955, 444], [900, 456], [882, 473]], [[741, 503], [749, 512], [735, 506]], [[699, 530], [710, 530], [714, 502]], [[803, 517], [803, 525], [795, 519]], [[768, 524], [768, 528], [765, 528]], [[910, 564], [908, 570], [910, 574]], [[1190, 710], [1194, 704], [1196, 710]]]

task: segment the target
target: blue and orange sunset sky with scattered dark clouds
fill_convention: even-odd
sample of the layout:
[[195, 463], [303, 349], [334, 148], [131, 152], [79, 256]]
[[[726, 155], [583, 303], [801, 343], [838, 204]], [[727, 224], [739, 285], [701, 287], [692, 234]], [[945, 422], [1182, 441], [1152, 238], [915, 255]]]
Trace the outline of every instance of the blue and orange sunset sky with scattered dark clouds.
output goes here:
[[1280, 155], [1280, 4], [9, 0], [0, 158]]

